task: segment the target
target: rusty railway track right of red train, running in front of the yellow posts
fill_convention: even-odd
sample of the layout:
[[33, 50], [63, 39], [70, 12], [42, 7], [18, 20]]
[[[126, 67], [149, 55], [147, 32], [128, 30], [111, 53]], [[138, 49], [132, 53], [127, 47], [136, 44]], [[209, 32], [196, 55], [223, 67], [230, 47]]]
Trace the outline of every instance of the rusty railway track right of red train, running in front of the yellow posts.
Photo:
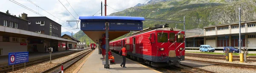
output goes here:
[[199, 62], [208, 62], [208, 63], [214, 63], [214, 64], [217, 64], [217, 65], [224, 65], [224, 66], [230, 66], [230, 67], [241, 67], [241, 68], [256, 69], [256, 65], [241, 65], [241, 64], [231, 64], [231, 63], [222, 63], [222, 62], [210, 62], [210, 61], [202, 61], [202, 60], [195, 60], [195, 59], [186, 59], [186, 60], [199, 61]]

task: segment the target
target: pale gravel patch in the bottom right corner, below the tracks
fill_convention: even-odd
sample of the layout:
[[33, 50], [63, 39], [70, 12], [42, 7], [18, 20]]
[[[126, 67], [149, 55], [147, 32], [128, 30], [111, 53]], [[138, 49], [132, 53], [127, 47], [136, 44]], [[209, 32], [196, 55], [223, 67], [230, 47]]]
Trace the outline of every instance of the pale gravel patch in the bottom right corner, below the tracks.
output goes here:
[[236, 68], [236, 67], [223, 67], [223, 66], [204, 66], [204, 67], [198, 67], [204, 70], [209, 70], [217, 73], [255, 73], [256, 70], [253, 69], [246, 69], [246, 68]]

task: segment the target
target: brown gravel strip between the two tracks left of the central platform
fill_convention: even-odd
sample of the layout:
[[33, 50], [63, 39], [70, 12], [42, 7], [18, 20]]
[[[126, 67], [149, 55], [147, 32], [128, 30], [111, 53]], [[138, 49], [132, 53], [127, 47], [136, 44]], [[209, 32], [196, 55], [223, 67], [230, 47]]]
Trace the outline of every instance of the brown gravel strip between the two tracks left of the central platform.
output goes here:
[[[44, 70], [47, 70], [51, 67], [54, 67], [55, 65], [61, 64], [62, 62], [65, 62], [65, 61], [73, 58], [74, 56], [77, 56], [80, 53], [86, 52], [86, 51], [87, 50], [84, 50], [84, 51], [80, 51], [80, 52], [77, 52], [77, 53], [70, 54], [68, 56], [59, 57], [58, 59], [52, 59], [52, 63], [49, 63], [49, 60], [47, 60], [47, 61], [44, 61], [44, 62], [41, 62], [41, 63], [26, 66], [26, 73], [41, 73]], [[14, 71], [14, 73], [23, 73], [23, 72], [24, 72], [24, 68], [21, 68], [19, 70]], [[12, 72], [9, 72], [9, 73], [12, 73]]]

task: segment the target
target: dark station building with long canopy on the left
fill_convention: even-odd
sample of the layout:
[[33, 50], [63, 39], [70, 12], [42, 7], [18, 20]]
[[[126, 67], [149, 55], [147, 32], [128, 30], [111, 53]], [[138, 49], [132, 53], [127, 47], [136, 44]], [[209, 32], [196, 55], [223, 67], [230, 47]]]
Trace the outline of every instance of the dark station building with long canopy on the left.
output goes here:
[[9, 52], [45, 52], [45, 47], [65, 51], [67, 48], [61, 43], [76, 42], [58, 35], [61, 25], [47, 17], [27, 17], [25, 13], [16, 17], [0, 12], [0, 56]]

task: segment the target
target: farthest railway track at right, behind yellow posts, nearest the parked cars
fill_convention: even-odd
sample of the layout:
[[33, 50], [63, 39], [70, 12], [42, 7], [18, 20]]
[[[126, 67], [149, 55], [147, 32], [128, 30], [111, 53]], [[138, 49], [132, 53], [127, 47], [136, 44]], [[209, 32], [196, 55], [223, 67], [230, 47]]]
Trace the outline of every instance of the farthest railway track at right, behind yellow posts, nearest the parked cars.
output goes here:
[[[224, 55], [212, 55], [212, 54], [196, 54], [196, 53], [186, 53], [186, 56], [190, 56], [190, 57], [199, 57], [199, 58], [207, 58], [207, 59], [222, 59], [225, 60], [225, 56]], [[240, 59], [238, 56], [236, 56], [234, 58], [233, 56], [233, 60], [234, 61], [240, 61]], [[253, 58], [253, 59], [252, 59]], [[255, 56], [249, 56], [248, 61], [256, 61], [256, 57]]]

